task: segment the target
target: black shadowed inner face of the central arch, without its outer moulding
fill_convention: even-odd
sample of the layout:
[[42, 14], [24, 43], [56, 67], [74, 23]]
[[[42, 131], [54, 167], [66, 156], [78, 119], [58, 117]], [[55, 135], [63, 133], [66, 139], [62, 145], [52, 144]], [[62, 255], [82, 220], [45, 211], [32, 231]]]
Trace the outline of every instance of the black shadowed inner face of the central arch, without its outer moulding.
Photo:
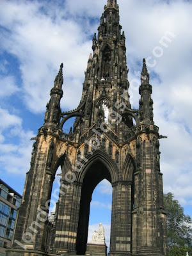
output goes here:
[[79, 224], [77, 230], [77, 254], [84, 255], [88, 240], [88, 225], [90, 219], [90, 203], [92, 201], [93, 190], [102, 180], [111, 183], [111, 175], [108, 168], [99, 160], [87, 170], [81, 192]]

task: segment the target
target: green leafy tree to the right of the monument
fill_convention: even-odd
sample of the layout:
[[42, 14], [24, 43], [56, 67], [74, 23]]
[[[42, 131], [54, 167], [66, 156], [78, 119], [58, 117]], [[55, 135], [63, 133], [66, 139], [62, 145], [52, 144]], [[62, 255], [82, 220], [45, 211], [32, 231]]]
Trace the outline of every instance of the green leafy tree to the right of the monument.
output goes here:
[[192, 256], [192, 220], [184, 214], [183, 207], [172, 193], [164, 195], [164, 207], [167, 212], [169, 256]]

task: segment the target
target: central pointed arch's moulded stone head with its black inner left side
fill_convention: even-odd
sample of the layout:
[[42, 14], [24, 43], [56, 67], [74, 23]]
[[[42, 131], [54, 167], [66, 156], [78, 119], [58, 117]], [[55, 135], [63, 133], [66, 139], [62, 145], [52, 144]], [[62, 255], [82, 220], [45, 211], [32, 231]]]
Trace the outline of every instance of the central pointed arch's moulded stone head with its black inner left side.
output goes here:
[[[81, 172], [77, 176], [77, 183], [82, 184], [77, 228], [77, 254], [79, 255], [84, 255], [86, 251], [93, 190], [104, 179], [107, 179], [111, 185], [118, 180], [118, 167], [104, 151], [97, 150], [92, 156], [86, 158], [88, 161], [84, 163]], [[112, 208], [115, 209], [115, 206], [112, 206]]]

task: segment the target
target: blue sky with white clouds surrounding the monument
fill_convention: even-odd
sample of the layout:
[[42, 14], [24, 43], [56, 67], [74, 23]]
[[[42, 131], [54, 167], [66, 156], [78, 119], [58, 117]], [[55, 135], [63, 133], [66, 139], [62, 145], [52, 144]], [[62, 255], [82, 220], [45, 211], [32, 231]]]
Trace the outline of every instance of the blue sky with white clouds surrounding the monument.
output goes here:
[[[60, 63], [65, 78], [61, 106], [63, 110], [74, 109], [81, 98], [92, 37], [106, 3], [0, 1], [0, 175], [20, 193], [29, 170], [30, 138], [44, 122]], [[154, 63], [148, 67], [154, 119], [160, 133], [168, 136], [160, 141], [164, 192], [174, 193], [186, 214], [192, 216], [192, 2], [118, 0], [118, 4], [126, 36], [132, 107], [138, 108], [138, 84], [134, 81], [141, 72], [142, 59], [150, 58]], [[161, 42], [164, 35], [169, 35], [166, 44]], [[90, 225], [103, 221], [107, 230], [110, 186], [104, 181], [94, 192], [90, 220]], [[106, 212], [102, 215], [109, 216], [108, 220], [96, 218], [95, 209]]]

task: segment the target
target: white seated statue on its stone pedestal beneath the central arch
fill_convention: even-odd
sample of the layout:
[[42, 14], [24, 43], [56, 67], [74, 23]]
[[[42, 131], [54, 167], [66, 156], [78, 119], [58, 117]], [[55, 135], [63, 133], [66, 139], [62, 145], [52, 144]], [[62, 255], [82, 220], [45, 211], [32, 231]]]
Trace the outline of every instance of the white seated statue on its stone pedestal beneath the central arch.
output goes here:
[[105, 243], [105, 234], [104, 227], [102, 223], [99, 223], [99, 230], [95, 230], [92, 236], [92, 241], [90, 241], [86, 245], [86, 254], [85, 255], [98, 255], [98, 256], [106, 256], [107, 249]]

